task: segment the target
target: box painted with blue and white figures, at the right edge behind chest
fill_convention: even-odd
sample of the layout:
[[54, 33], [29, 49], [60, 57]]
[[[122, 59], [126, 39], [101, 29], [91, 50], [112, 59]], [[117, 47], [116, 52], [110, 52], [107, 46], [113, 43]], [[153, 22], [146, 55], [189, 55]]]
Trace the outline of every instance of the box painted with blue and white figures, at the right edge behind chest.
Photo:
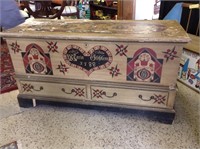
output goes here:
[[178, 80], [200, 93], [200, 38], [189, 34], [192, 39], [183, 48]]

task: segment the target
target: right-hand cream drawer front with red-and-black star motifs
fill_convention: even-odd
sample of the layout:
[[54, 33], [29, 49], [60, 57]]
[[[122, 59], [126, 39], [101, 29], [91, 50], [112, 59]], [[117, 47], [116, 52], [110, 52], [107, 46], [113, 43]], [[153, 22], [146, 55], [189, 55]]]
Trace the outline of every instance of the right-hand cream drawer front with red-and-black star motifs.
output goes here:
[[167, 107], [167, 91], [149, 91], [131, 88], [111, 88], [91, 86], [91, 99], [98, 102], [110, 102], [136, 106]]

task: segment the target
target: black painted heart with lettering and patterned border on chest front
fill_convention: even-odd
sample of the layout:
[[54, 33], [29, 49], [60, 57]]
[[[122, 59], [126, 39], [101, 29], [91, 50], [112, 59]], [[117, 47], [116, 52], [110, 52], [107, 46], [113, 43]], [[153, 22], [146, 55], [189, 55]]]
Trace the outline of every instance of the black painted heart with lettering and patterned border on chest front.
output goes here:
[[83, 70], [88, 76], [95, 70], [107, 68], [113, 60], [111, 52], [104, 46], [95, 46], [88, 52], [76, 45], [63, 51], [63, 58], [72, 67]]

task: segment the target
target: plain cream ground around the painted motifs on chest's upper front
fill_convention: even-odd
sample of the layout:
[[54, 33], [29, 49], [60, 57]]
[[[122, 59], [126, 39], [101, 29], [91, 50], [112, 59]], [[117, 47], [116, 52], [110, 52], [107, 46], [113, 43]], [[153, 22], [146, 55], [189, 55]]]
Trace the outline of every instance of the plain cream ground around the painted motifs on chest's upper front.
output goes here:
[[[49, 49], [47, 48], [48, 40], [36, 40], [36, 39], [23, 39], [18, 40], [17, 43], [20, 45], [21, 51], [18, 53], [14, 53], [14, 51], [10, 50], [11, 57], [13, 59], [13, 65], [15, 68], [15, 72], [18, 74], [27, 74], [27, 75], [38, 75], [38, 76], [44, 76], [42, 74], [31, 74], [25, 72], [25, 67], [22, 59], [21, 52], [26, 51], [26, 47], [29, 44], [36, 43], [38, 46], [40, 46], [45, 53], [49, 53], [51, 64], [53, 68], [53, 76], [58, 78], [71, 78], [71, 79], [84, 79], [84, 80], [98, 80], [98, 81], [111, 81], [111, 82], [126, 82], [126, 83], [136, 83], [136, 84], [154, 84], [154, 85], [164, 85], [164, 86], [171, 86], [176, 84], [176, 79], [178, 75], [178, 67], [179, 67], [179, 61], [180, 61], [180, 55], [182, 53], [182, 45], [181, 44], [171, 44], [171, 43], [125, 43], [125, 42], [92, 42], [92, 41], [62, 41], [62, 40], [54, 40], [52, 42], [57, 42], [58, 46], [58, 53], [57, 52], [49, 52]], [[16, 40], [8, 40], [8, 44], [15, 43]], [[51, 42], [48, 41], [48, 42]], [[120, 56], [119, 54], [116, 55], [116, 48], [117, 45], [123, 45], [128, 46], [127, 47], [127, 57], [126, 56]], [[77, 45], [80, 48], [82, 48], [85, 52], [90, 51], [93, 47], [97, 45], [105, 46], [109, 51], [112, 53], [112, 63], [109, 67], [95, 70], [91, 74], [86, 74], [83, 70], [69, 66], [64, 58], [63, 58], [63, 51], [68, 45]], [[87, 46], [86, 46], [87, 45]], [[174, 60], [168, 60], [166, 62], [166, 58], [164, 58], [165, 54], [163, 52], [166, 52], [168, 49], [173, 49], [175, 46], [175, 51], [177, 52], [176, 56], [177, 58], [174, 58]], [[154, 83], [154, 82], [144, 82], [144, 81], [127, 81], [126, 75], [127, 75], [127, 58], [133, 58], [134, 53], [140, 49], [140, 48], [150, 48], [152, 49], [156, 54], [158, 59], [163, 60], [162, 65], [162, 72], [161, 72], [161, 80], [160, 83]], [[69, 69], [68, 71], [63, 74], [59, 71], [58, 65], [62, 62], [65, 64]], [[112, 77], [109, 73], [109, 70], [111, 67], [118, 66], [120, 69], [120, 75], [117, 77]], [[49, 77], [52, 75], [45, 75], [45, 77]]]

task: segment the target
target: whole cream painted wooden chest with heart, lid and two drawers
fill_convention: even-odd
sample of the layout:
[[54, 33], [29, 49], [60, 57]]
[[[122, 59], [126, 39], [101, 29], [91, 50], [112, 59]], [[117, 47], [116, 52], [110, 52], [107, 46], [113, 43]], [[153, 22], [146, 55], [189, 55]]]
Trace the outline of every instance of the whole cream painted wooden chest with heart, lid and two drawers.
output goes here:
[[[175, 21], [33, 20], [1, 33], [30, 99], [171, 114], [182, 47]], [[148, 113], [147, 112], [147, 113]]]

